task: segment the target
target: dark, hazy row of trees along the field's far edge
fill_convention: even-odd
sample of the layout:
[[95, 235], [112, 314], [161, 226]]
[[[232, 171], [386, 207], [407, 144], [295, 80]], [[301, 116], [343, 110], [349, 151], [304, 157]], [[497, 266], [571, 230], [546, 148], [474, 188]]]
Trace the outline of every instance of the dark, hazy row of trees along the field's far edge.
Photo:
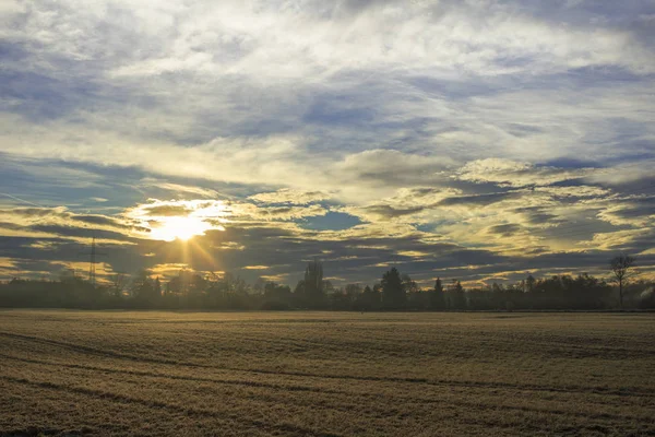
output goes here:
[[352, 311], [655, 308], [655, 284], [628, 281], [634, 259], [621, 257], [610, 264], [616, 286], [583, 273], [539, 279], [528, 275], [510, 285], [493, 283], [471, 288], [457, 280], [446, 282], [438, 277], [426, 290], [394, 267], [372, 286], [334, 287], [323, 277], [322, 263], [312, 261], [294, 290], [271, 281], [260, 280], [250, 285], [229, 273], [203, 276], [188, 270], [181, 270], [166, 283], [153, 279], [147, 271], [141, 271], [130, 281], [124, 275], [115, 275], [110, 283], [102, 285], [70, 273], [58, 281], [13, 279], [0, 284], [0, 307]]

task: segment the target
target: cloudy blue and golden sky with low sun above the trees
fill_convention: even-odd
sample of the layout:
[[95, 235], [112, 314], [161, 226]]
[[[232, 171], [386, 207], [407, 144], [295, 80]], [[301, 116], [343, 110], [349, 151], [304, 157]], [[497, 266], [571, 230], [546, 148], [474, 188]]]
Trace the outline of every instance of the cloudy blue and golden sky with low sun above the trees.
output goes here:
[[0, 0], [0, 280], [655, 276], [655, 1]]

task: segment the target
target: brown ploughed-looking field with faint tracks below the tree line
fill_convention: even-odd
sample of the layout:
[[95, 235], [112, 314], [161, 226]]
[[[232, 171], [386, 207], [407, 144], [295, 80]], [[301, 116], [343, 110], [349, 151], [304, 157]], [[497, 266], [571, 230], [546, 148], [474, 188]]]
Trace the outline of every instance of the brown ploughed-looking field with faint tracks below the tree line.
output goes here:
[[0, 435], [655, 435], [653, 314], [0, 311]]

